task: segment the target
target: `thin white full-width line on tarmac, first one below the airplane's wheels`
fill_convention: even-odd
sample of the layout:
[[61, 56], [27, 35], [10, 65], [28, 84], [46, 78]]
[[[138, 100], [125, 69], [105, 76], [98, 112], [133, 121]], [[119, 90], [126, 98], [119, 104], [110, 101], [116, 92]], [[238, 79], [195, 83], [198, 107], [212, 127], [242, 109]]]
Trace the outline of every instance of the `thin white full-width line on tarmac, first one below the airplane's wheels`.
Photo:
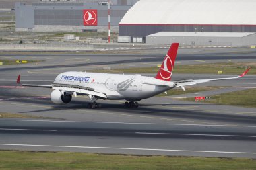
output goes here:
[[133, 122], [94, 122], [94, 121], [72, 121], [72, 120], [19, 120], [19, 119], [0, 119], [1, 121], [10, 122], [54, 122], [54, 123], [86, 123], [86, 124], [146, 124], [146, 125], [170, 125], [170, 126], [219, 126], [219, 127], [236, 127], [236, 128], [256, 128], [256, 126], [248, 125], [232, 125], [232, 124], [158, 124], [158, 123], [133, 123]]

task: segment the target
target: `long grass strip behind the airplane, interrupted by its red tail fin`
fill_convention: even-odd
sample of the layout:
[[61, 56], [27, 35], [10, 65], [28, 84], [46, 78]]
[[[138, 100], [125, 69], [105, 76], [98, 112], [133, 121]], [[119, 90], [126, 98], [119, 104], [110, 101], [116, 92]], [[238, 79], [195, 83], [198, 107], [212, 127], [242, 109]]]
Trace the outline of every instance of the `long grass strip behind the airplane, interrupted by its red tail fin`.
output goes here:
[[[215, 64], [199, 64], [199, 65], [175, 65], [173, 73], [189, 73], [189, 74], [236, 74], [243, 73], [248, 67], [251, 67], [249, 75], [256, 74], [256, 62], [228, 62]], [[130, 67], [123, 69], [111, 70], [93, 70], [92, 72], [104, 73], [157, 73], [159, 67]]]

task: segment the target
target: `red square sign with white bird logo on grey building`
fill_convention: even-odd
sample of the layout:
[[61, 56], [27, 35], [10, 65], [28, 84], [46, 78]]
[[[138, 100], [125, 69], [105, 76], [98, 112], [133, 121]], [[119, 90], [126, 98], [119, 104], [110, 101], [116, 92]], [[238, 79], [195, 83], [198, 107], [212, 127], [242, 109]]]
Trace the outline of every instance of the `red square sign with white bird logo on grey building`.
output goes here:
[[84, 10], [84, 26], [97, 26], [98, 14], [96, 9]]

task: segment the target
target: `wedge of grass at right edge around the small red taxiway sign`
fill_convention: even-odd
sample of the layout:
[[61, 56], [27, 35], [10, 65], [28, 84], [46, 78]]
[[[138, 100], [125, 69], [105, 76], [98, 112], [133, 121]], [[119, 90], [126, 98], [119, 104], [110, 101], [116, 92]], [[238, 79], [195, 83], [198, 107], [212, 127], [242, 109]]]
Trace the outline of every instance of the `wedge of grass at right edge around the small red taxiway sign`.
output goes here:
[[[256, 108], [256, 89], [234, 91], [211, 96], [210, 100], [197, 101], [203, 103], [213, 103], [220, 105], [236, 105], [242, 107]], [[183, 99], [184, 100], [184, 99]], [[195, 101], [194, 98], [187, 98], [186, 101]]]

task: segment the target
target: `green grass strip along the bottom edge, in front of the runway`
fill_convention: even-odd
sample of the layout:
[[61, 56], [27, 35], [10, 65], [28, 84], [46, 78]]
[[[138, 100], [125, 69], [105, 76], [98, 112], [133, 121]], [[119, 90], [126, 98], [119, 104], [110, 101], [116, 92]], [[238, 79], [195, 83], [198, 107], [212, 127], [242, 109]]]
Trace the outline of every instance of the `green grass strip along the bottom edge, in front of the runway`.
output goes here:
[[0, 169], [256, 169], [255, 159], [0, 151]]

